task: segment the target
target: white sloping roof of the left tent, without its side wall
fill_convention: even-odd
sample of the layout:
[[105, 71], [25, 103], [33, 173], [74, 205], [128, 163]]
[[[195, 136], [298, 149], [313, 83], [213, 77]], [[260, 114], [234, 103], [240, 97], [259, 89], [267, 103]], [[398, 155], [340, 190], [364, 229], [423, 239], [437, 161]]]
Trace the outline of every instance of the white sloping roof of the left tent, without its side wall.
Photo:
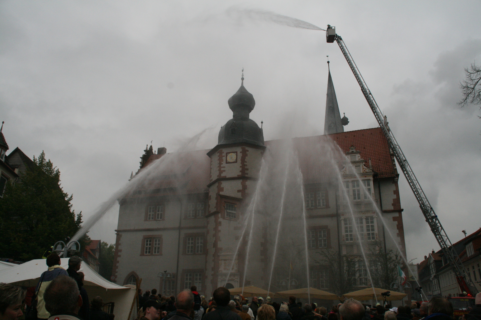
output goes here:
[[[69, 258], [61, 259], [61, 266], [65, 270], [68, 268], [68, 259]], [[4, 270], [0, 270], [0, 282], [34, 286], [37, 285], [40, 275], [44, 271], [47, 271], [47, 269], [48, 267], [45, 259], [31, 260]], [[87, 263], [83, 262], [80, 265], [79, 271], [85, 274], [85, 286], [101, 286], [105, 289], [127, 289], [124, 286], [114, 284], [106, 280], [100, 274], [93, 271], [92, 268], [87, 265]]]

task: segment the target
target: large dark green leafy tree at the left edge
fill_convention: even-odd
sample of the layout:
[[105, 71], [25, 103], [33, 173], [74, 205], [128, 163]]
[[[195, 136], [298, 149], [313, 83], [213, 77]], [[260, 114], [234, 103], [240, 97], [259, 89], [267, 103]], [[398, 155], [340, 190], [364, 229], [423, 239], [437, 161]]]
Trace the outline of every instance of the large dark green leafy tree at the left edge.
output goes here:
[[82, 214], [72, 210], [72, 195], [60, 186], [59, 169], [43, 151], [33, 162], [19, 181], [6, 186], [0, 199], [0, 257], [39, 259], [82, 224]]

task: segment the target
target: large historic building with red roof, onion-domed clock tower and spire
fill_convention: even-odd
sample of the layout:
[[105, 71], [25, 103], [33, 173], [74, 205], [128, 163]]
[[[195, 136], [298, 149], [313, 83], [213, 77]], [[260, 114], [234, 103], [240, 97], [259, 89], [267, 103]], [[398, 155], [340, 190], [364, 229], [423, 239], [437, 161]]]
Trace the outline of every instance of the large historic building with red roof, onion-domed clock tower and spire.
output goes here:
[[[349, 277], [354, 287], [364, 288], [370, 286], [367, 268], [377, 266], [376, 261], [367, 266], [363, 252], [399, 248], [405, 255], [393, 154], [380, 128], [344, 132], [349, 121], [340, 116], [330, 71], [324, 135], [264, 141], [262, 127], [249, 118], [255, 101], [243, 78], [228, 105], [233, 117], [221, 127], [214, 148], [172, 154], [145, 148], [139, 170], [130, 177], [133, 187], [119, 199], [114, 282], [135, 284], [142, 278], [144, 289], [167, 296], [191, 285], [206, 296], [218, 286], [267, 289], [276, 256], [271, 290], [309, 282], [331, 291], [337, 281], [329, 269], [332, 261], [320, 259], [329, 251], [342, 261], [353, 258]], [[287, 169], [269, 167], [288, 156], [294, 160]], [[285, 209], [281, 226], [280, 215], [272, 214], [281, 210], [274, 190], [282, 188], [262, 183], [282, 181], [275, 178], [284, 175], [298, 184], [283, 193], [288, 201], [280, 205]], [[272, 192], [256, 202], [261, 187]], [[260, 215], [256, 223], [254, 212]], [[288, 245], [285, 239], [294, 236], [302, 241]]]

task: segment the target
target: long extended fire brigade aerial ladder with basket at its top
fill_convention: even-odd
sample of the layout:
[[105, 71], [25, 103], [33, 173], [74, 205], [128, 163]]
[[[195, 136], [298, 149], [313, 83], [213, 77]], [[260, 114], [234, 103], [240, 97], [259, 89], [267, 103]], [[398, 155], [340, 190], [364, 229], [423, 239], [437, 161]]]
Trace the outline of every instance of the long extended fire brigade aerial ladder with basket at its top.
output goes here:
[[351, 71], [353, 71], [354, 73], [354, 77], [356, 78], [357, 83], [359, 83], [359, 86], [361, 87], [361, 91], [367, 100], [367, 104], [371, 108], [372, 113], [374, 113], [374, 117], [376, 117], [376, 120], [378, 121], [382, 129], [382, 132], [384, 133], [384, 136], [388, 141], [392, 153], [394, 154], [397, 163], [401, 167], [401, 170], [406, 177], [409, 187], [411, 187], [411, 190], [413, 190], [416, 200], [418, 200], [419, 207], [421, 208], [421, 212], [426, 218], [426, 222], [428, 223], [432, 233], [434, 234], [434, 237], [436, 237], [436, 240], [438, 241], [438, 244], [443, 251], [444, 257], [451, 265], [453, 272], [456, 274], [456, 280], [459, 284], [459, 288], [461, 289], [461, 291], [465, 291], [467, 294], [473, 296], [474, 294], [476, 294], [477, 290], [474, 282], [471, 280], [469, 272], [465, 269], [462, 261], [460, 261], [459, 255], [456, 253], [453, 244], [451, 243], [449, 237], [444, 231], [444, 228], [441, 225], [438, 216], [436, 215], [436, 213], [434, 213], [434, 209], [432, 209], [428, 198], [424, 194], [424, 191], [419, 184], [418, 179], [414, 175], [411, 166], [409, 166], [409, 163], [407, 162], [407, 159], [403, 151], [401, 150], [401, 147], [397, 143], [396, 138], [394, 138], [392, 131], [388, 127], [386, 117], [382, 114], [378, 104], [376, 103], [376, 100], [374, 100], [371, 91], [367, 87], [367, 84], [364, 81], [361, 72], [359, 72], [359, 69], [354, 63], [354, 59], [352, 58], [351, 53], [349, 53], [349, 50], [344, 44], [342, 37], [336, 34], [336, 27], [328, 24], [328, 28], [326, 30], [326, 40], [328, 43], [336, 41], [339, 45], [339, 48], [344, 55], [344, 58], [346, 58], [346, 61], [351, 68]]

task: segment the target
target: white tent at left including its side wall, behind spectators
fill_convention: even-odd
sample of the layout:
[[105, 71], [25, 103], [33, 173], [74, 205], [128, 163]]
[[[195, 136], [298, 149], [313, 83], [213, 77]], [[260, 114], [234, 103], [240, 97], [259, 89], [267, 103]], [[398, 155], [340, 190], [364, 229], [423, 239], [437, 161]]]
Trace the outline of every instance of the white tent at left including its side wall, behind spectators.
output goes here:
[[[62, 258], [61, 261], [61, 266], [66, 270], [68, 258]], [[0, 282], [26, 287], [35, 286], [40, 279], [40, 275], [47, 269], [45, 259], [31, 260], [0, 270]], [[114, 302], [115, 319], [127, 319], [136, 289], [105, 280], [100, 274], [93, 271], [87, 263], [82, 263], [79, 271], [85, 274], [84, 287], [89, 295], [89, 300], [101, 296], [104, 303]], [[134, 308], [132, 313], [136, 314], [135, 311]]]

